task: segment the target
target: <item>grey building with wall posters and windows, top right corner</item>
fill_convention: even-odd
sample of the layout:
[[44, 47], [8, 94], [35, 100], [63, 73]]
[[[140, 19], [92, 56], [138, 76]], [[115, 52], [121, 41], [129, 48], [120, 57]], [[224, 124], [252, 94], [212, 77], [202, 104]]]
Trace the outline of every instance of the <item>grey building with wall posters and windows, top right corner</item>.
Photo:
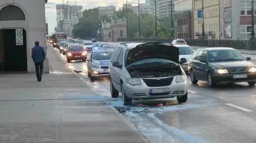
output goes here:
[[[252, 31], [252, 1], [224, 0], [220, 3], [220, 31], [221, 39], [248, 40]], [[254, 15], [256, 15], [254, 1]], [[254, 18], [256, 23], [256, 18]], [[254, 30], [255, 29], [254, 25]]]

